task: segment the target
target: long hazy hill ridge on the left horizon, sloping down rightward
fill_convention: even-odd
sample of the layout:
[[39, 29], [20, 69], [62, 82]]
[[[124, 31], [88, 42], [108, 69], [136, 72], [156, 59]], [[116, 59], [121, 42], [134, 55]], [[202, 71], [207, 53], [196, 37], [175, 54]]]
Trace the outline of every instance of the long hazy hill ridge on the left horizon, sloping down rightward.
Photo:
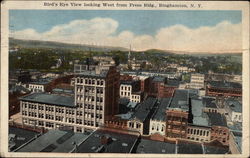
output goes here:
[[81, 49], [91, 51], [103, 51], [109, 52], [112, 50], [127, 51], [126, 48], [122, 47], [109, 47], [109, 46], [95, 46], [95, 45], [82, 45], [82, 44], [69, 44], [52, 41], [38, 41], [38, 40], [21, 40], [9, 38], [10, 47], [26, 47], [26, 48], [53, 48], [53, 49]]

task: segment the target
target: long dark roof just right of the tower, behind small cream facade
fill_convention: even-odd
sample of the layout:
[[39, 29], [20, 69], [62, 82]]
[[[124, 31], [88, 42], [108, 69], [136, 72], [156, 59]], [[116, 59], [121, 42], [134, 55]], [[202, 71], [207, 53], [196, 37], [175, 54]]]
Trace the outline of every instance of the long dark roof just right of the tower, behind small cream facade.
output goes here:
[[148, 117], [151, 109], [156, 104], [157, 99], [149, 97], [144, 102], [137, 105], [135, 109], [135, 113], [132, 116], [133, 119], [139, 119], [140, 121], [144, 122], [145, 119]]

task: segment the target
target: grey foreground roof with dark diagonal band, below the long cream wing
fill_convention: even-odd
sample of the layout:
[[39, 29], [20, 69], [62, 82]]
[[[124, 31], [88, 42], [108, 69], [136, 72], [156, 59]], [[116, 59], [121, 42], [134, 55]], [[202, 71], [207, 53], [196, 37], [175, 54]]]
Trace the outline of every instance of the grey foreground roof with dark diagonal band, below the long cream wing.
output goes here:
[[73, 131], [49, 130], [17, 152], [70, 152], [76, 144], [84, 141], [88, 135]]

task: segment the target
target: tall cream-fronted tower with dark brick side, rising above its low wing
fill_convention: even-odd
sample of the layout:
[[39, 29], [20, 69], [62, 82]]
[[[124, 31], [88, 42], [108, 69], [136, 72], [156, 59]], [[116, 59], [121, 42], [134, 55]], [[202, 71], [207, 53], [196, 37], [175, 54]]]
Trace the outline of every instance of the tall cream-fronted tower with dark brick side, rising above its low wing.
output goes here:
[[118, 113], [119, 78], [115, 67], [75, 76], [75, 104], [86, 114], [88, 126], [98, 127]]

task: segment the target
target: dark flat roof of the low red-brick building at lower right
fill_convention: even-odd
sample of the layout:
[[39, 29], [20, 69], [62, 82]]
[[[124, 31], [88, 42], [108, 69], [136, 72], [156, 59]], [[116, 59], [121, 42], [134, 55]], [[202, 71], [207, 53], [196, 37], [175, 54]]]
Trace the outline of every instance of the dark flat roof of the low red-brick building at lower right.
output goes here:
[[225, 126], [227, 127], [227, 121], [224, 115], [220, 113], [207, 113], [209, 118], [209, 124], [211, 126]]

